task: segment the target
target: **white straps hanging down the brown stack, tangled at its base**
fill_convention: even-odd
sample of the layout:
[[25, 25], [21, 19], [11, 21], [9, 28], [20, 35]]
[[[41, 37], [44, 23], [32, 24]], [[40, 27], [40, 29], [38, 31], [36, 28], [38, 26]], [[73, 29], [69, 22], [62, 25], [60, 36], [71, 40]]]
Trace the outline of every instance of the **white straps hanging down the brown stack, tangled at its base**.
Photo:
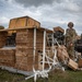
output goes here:
[[[44, 31], [44, 44], [43, 44], [43, 70], [35, 70], [34, 65], [33, 65], [33, 72], [34, 74], [25, 78], [25, 80], [28, 80], [30, 78], [34, 78], [34, 82], [36, 82], [37, 77], [42, 77], [42, 78], [48, 78], [48, 72], [56, 66], [59, 65], [59, 62], [57, 62], [57, 50], [54, 47], [54, 34], [52, 34], [52, 52], [55, 54], [54, 58], [50, 58], [46, 55], [46, 30]], [[58, 44], [58, 42], [56, 40], [56, 43]], [[59, 46], [59, 44], [58, 44]], [[35, 51], [36, 51], [36, 28], [34, 28], [34, 62], [35, 62]], [[47, 60], [45, 60], [45, 58]], [[49, 68], [45, 69], [45, 63], [48, 63]]]

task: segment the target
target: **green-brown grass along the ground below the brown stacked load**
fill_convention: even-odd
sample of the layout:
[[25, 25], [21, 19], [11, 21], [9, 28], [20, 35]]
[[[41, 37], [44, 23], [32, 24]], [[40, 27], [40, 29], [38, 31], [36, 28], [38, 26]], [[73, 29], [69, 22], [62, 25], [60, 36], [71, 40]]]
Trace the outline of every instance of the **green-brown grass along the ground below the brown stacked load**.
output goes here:
[[[11, 73], [0, 69], [0, 82], [34, 82], [33, 79], [23, 80], [25, 75]], [[55, 70], [49, 73], [48, 80], [38, 79], [37, 82], [82, 82], [82, 71]]]

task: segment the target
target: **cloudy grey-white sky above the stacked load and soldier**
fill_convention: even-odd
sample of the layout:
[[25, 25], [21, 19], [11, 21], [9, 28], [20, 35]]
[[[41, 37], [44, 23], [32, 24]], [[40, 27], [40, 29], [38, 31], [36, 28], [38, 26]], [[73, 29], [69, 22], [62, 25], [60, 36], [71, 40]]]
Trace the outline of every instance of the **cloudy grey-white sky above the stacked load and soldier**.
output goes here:
[[68, 27], [69, 22], [82, 33], [82, 0], [0, 0], [0, 25], [9, 27], [13, 17], [31, 16], [42, 27]]

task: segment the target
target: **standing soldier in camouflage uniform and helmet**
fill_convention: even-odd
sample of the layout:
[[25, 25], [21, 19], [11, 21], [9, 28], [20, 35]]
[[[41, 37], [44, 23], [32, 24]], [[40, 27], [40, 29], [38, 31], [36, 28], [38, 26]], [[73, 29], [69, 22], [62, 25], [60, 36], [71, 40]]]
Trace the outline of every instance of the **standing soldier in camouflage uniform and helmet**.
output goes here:
[[69, 22], [66, 31], [66, 46], [69, 57], [74, 59], [74, 40], [77, 39], [77, 32], [73, 28], [73, 23]]

